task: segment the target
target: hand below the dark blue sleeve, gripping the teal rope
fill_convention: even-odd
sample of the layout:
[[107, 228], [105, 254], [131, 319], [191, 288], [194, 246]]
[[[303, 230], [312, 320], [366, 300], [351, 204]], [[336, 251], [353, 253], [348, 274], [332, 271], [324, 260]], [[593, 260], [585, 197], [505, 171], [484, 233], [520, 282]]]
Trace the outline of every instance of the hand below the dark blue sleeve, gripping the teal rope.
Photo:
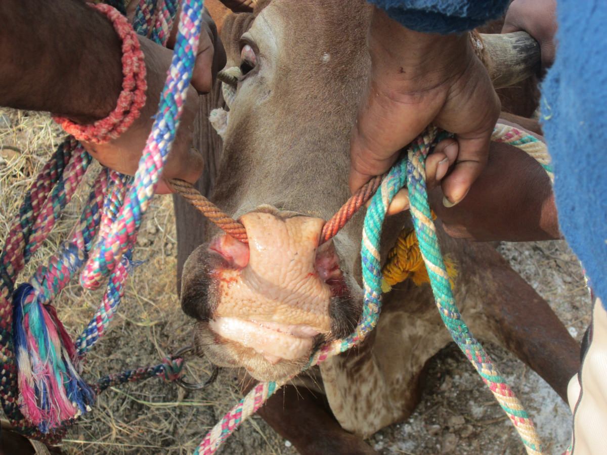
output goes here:
[[[445, 204], [466, 196], [481, 174], [500, 101], [466, 34], [412, 32], [376, 9], [369, 35], [371, 78], [351, 135], [350, 189], [385, 172], [428, 124], [456, 134], [426, 162]], [[448, 173], [448, 171], [450, 171]], [[401, 193], [395, 206], [407, 208]]]

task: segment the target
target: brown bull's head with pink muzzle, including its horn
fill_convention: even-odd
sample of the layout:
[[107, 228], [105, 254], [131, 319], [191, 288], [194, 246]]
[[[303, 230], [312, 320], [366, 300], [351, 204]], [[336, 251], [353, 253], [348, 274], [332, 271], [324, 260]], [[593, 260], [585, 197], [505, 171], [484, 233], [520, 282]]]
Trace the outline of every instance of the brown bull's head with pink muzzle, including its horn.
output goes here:
[[[222, 76], [234, 98], [211, 199], [240, 218], [249, 245], [209, 236], [185, 264], [181, 305], [212, 362], [260, 380], [300, 371], [314, 348], [354, 328], [362, 306], [362, 215], [318, 247], [323, 220], [349, 196], [348, 140], [370, 70], [370, 7], [337, 3], [274, 0], [223, 24], [240, 74]], [[472, 38], [496, 86], [536, 70], [528, 35]], [[387, 222], [386, 248], [406, 223]]]

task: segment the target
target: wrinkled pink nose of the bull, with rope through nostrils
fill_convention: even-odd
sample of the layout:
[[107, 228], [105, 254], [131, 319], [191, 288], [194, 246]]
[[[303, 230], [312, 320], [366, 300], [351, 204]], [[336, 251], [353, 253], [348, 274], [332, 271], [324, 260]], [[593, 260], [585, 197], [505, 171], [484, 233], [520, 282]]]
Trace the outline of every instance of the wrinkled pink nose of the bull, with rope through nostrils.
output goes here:
[[327, 283], [341, 272], [333, 244], [318, 247], [324, 220], [251, 212], [240, 221], [248, 245], [228, 235], [209, 245], [228, 266], [214, 271], [219, 281], [215, 316], [329, 331], [332, 289]]

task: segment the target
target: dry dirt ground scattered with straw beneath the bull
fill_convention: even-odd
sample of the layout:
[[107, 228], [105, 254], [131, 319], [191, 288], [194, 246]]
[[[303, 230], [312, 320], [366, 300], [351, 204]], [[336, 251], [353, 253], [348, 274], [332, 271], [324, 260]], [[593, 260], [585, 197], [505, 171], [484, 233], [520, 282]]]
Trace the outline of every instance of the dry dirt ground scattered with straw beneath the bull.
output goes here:
[[[61, 140], [61, 131], [47, 116], [0, 109], [0, 240], [37, 170]], [[89, 170], [89, 181], [98, 167]], [[33, 258], [33, 267], [56, 251], [79, 215], [86, 187], [68, 207], [58, 229]], [[170, 197], [157, 197], [140, 232], [135, 259], [143, 261], [131, 274], [126, 296], [106, 337], [90, 352], [86, 377], [158, 363], [189, 343], [191, 323], [175, 294], [175, 226]], [[501, 244], [501, 254], [534, 286], [578, 340], [589, 322], [589, 298], [582, 272], [560, 241]], [[70, 285], [55, 302], [59, 317], [76, 334], [100, 302], [98, 292]], [[521, 362], [488, 345], [510, 385], [538, 425], [546, 453], [560, 453], [569, 439], [568, 407]], [[206, 360], [188, 362], [187, 379], [205, 380]], [[433, 360], [422, 402], [410, 419], [392, 425], [368, 441], [382, 454], [522, 454], [523, 447], [490, 392], [450, 346]], [[186, 393], [159, 379], [112, 388], [97, 406], [70, 430], [63, 443], [70, 454], [186, 454], [239, 399], [234, 371], [223, 370], [206, 389]], [[245, 422], [223, 448], [224, 454], [293, 454], [259, 417]]]

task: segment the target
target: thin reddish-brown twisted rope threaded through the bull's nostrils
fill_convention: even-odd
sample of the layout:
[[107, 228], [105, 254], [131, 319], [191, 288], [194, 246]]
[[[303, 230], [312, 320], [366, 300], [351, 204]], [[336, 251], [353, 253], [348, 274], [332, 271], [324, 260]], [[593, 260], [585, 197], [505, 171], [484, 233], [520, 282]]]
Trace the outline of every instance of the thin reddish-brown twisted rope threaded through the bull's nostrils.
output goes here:
[[[337, 213], [322, 227], [319, 244], [323, 244], [325, 241], [330, 240], [337, 235], [337, 232], [339, 232], [345, 224], [350, 221], [354, 214], [356, 214], [356, 212], [358, 212], [375, 194], [381, 184], [382, 178], [384, 178], [384, 175], [373, 177], [341, 206]], [[180, 194], [181, 197], [185, 198], [185, 200], [198, 212], [205, 215], [205, 217], [214, 223], [215, 226], [222, 229], [223, 232], [231, 235], [242, 243], [249, 243], [245, 226], [234, 220], [234, 218], [229, 217], [228, 214], [200, 194], [191, 183], [178, 178], [172, 178], [169, 180], [169, 185], [175, 192]]]

